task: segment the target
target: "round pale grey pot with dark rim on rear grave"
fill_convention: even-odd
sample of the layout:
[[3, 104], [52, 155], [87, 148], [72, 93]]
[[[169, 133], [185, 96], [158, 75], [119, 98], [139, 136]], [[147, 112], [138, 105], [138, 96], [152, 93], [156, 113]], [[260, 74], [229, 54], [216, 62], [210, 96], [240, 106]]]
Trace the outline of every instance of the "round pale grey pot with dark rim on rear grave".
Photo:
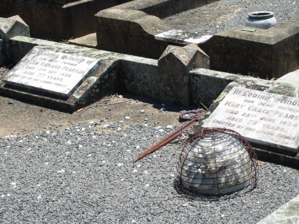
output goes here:
[[246, 26], [269, 29], [277, 24], [274, 13], [271, 11], [256, 11], [248, 14]]

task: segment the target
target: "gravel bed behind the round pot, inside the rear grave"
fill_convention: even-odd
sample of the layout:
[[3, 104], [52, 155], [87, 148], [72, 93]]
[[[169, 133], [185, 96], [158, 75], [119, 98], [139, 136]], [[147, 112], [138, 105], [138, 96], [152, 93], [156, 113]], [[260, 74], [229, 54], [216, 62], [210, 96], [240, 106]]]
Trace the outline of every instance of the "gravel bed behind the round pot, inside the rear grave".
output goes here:
[[[278, 22], [299, 17], [298, 0], [220, 0], [164, 19], [171, 28], [215, 34], [230, 28], [245, 26], [247, 14], [252, 11], [273, 11]], [[184, 20], [182, 16], [191, 17]], [[171, 20], [179, 18], [171, 24]], [[179, 22], [181, 21], [181, 22]], [[197, 25], [199, 24], [199, 25]], [[199, 27], [198, 27], [199, 26]]]

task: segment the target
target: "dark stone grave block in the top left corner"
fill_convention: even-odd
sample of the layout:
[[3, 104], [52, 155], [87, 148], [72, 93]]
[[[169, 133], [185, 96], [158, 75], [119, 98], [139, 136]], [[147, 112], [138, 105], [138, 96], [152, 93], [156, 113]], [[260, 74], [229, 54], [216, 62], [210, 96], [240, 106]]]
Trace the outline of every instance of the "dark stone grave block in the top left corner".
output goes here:
[[20, 15], [34, 37], [67, 40], [95, 32], [94, 15], [99, 10], [127, 1], [1, 0], [0, 16]]

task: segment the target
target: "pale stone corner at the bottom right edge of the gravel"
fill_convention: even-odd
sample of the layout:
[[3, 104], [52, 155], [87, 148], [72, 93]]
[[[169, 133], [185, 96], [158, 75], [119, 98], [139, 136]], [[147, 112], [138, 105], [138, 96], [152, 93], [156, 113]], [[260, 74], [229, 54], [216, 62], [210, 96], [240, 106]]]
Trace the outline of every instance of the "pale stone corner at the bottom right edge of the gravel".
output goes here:
[[299, 223], [299, 196], [271, 213], [257, 224], [297, 224]]

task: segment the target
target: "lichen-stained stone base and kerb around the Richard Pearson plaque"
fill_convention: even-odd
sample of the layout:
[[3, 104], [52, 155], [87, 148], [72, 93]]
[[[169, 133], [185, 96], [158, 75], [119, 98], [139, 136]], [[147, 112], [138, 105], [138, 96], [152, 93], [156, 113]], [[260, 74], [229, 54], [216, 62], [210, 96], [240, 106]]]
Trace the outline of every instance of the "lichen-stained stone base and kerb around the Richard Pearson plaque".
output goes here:
[[[104, 96], [116, 93], [120, 90], [121, 81], [123, 83], [127, 82], [126, 77], [130, 77], [130, 79], [133, 80], [140, 80], [140, 74], [144, 76], [155, 76], [155, 71], [157, 69], [156, 60], [117, 54], [114, 52], [107, 52], [76, 45], [21, 36], [11, 38], [10, 44], [10, 53], [14, 59], [12, 63], [17, 63], [24, 55], [37, 45], [41, 49], [100, 59], [100, 67], [93, 75], [89, 76], [67, 100], [37, 96], [35, 94], [9, 89], [5, 87], [5, 83], [3, 81], [0, 84], [0, 92], [2, 96], [13, 96], [14, 98], [22, 99], [28, 103], [44, 105], [49, 108], [56, 108], [67, 112], [74, 112], [79, 108], [100, 100]], [[138, 70], [132, 73], [131, 71], [133, 71], [134, 68], [138, 68]], [[151, 73], [151, 71], [153, 71], [153, 73]], [[120, 77], [121, 73], [123, 74], [123, 78]], [[149, 81], [149, 79], [147, 79], [147, 81]], [[132, 91], [134, 85], [138, 87], [138, 90], [141, 90], [140, 93], [146, 92], [146, 96], [150, 96], [152, 98], [157, 96], [156, 90], [154, 89], [156, 88], [154, 87], [154, 81], [152, 84], [149, 84], [148, 82], [135, 82], [131, 86], [131, 89], [130, 85], [128, 85], [128, 89]], [[123, 87], [126, 87], [126, 85], [123, 85]]]

